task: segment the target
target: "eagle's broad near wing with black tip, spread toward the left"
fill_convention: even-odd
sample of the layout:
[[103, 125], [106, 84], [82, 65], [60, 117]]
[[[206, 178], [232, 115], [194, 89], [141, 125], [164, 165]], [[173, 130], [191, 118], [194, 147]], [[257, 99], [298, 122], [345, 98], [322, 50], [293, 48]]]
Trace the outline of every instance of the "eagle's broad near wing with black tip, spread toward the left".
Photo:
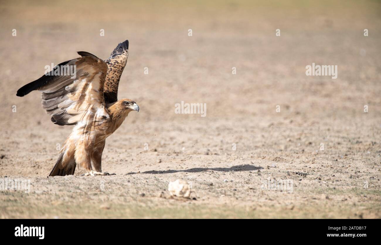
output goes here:
[[[51, 121], [61, 126], [78, 122], [90, 125], [109, 118], [103, 95], [107, 64], [87, 52], [78, 54], [82, 57], [54, 67], [53, 71], [59, 68], [60, 74], [43, 75], [21, 87], [17, 96], [24, 96], [33, 90], [42, 91], [42, 107], [52, 116]], [[67, 66], [76, 74], [65, 73]]]

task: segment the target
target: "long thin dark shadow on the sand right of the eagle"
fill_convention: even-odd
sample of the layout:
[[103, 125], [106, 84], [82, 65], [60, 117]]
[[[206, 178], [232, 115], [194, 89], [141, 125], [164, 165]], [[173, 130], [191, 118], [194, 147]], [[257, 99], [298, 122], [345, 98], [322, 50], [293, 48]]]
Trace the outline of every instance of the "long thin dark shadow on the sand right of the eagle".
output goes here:
[[[250, 164], [245, 164], [245, 165], [236, 165], [232, 166], [229, 168], [193, 168], [193, 169], [185, 169], [185, 170], [163, 170], [163, 171], [156, 171], [156, 170], [151, 170], [151, 171], [146, 171], [146, 172], [141, 172], [141, 173], [151, 173], [151, 174], [160, 174], [160, 173], [178, 173], [178, 172], [187, 172], [187, 173], [199, 173], [199, 172], [204, 172], [204, 171], [220, 171], [220, 172], [230, 172], [230, 171], [254, 171], [254, 170], [259, 170], [263, 169], [263, 167], [256, 167], [254, 165]], [[140, 172], [139, 172], [140, 173]], [[127, 174], [135, 174], [135, 172], [127, 173]]]

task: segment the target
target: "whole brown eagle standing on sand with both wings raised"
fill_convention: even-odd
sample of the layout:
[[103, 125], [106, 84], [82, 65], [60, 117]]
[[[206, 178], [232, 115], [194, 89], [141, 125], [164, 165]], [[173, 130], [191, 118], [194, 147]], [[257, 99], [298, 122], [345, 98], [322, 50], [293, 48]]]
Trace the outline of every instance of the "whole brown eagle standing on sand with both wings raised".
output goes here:
[[33, 90], [42, 91], [42, 107], [52, 116], [51, 121], [60, 126], [75, 125], [49, 176], [72, 175], [77, 164], [86, 169], [85, 176], [109, 175], [101, 167], [106, 138], [128, 113], [139, 111], [133, 100], [117, 100], [120, 76], [127, 63], [128, 40], [104, 61], [88, 52], [78, 54], [81, 57], [57, 66], [75, 66], [75, 76], [45, 74], [17, 91], [21, 97]]

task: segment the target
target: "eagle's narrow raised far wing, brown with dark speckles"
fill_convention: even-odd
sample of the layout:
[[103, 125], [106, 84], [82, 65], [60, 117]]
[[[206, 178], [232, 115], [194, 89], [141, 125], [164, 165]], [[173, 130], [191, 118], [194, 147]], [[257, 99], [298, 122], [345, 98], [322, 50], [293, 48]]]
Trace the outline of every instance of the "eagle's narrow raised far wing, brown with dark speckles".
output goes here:
[[106, 103], [118, 101], [118, 86], [120, 76], [127, 64], [128, 40], [119, 43], [112, 51], [111, 56], [105, 60], [108, 66], [106, 81], [104, 83], [104, 99]]

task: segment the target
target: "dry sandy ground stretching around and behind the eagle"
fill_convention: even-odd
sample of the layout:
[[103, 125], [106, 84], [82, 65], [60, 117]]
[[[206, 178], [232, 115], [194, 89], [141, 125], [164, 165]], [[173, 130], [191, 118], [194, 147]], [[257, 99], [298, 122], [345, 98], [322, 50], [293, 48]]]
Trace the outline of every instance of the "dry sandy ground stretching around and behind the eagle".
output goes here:
[[[1, 218], [381, 218], [380, 3], [155, 2], [2, 1], [0, 181], [31, 186], [0, 191]], [[72, 126], [17, 89], [126, 39], [118, 97], [140, 111], [106, 140], [116, 175], [47, 178]], [[338, 78], [306, 76], [312, 62]], [[181, 101], [206, 116], [175, 114]], [[168, 196], [178, 178], [192, 199]]]

